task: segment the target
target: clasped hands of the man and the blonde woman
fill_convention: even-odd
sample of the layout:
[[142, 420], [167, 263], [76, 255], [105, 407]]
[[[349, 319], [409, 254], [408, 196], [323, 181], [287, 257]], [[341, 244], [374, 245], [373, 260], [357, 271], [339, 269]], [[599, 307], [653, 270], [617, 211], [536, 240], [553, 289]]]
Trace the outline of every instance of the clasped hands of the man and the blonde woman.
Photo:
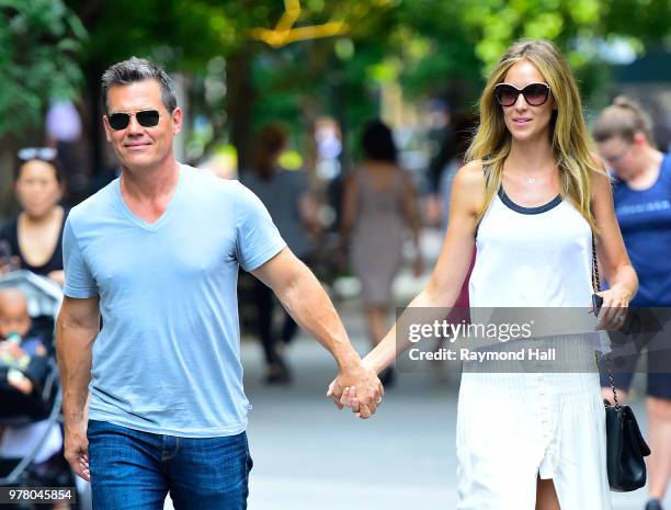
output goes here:
[[331, 398], [339, 409], [348, 406], [359, 418], [365, 420], [375, 413], [384, 394], [375, 371], [360, 364], [354, 370], [339, 373], [329, 385], [327, 397]]

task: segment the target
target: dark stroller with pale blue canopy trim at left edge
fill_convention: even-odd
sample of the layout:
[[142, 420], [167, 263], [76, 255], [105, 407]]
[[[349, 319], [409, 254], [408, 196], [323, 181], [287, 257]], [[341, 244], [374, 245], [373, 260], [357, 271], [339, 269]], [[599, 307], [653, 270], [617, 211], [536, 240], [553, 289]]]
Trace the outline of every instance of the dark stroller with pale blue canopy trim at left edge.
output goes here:
[[[61, 428], [61, 394], [56, 364], [54, 329], [62, 301], [62, 291], [48, 279], [30, 271], [15, 271], [0, 276], [0, 288], [16, 288], [24, 295], [32, 318], [31, 335], [38, 336], [47, 351], [47, 370], [38, 384], [38, 392], [23, 395], [7, 385], [0, 385], [0, 426], [21, 430], [22, 427], [39, 423], [36, 434], [23, 445], [27, 454], [22, 457], [5, 457], [0, 451], [0, 487], [77, 487], [76, 503], [71, 508], [91, 508], [90, 486], [77, 477], [59, 455], [57, 462], [37, 463], [36, 458], [45, 444], [54, 440], [54, 428]], [[2, 369], [0, 369], [1, 371]], [[3, 375], [3, 374], [0, 374]], [[10, 444], [10, 450], [13, 445]], [[62, 450], [62, 446], [60, 446]], [[62, 453], [62, 452], [61, 452]], [[39, 469], [37, 469], [37, 466]], [[36, 508], [18, 505], [18, 509]], [[41, 505], [38, 508], [48, 508]]]

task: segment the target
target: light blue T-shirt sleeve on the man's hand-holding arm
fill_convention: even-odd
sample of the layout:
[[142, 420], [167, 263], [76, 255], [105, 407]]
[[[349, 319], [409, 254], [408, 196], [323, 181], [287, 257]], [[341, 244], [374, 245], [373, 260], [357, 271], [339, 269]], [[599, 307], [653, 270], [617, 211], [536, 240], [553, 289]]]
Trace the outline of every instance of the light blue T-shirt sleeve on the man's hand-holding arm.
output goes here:
[[236, 199], [236, 254], [249, 272], [280, 253], [286, 242], [257, 195], [238, 183]]

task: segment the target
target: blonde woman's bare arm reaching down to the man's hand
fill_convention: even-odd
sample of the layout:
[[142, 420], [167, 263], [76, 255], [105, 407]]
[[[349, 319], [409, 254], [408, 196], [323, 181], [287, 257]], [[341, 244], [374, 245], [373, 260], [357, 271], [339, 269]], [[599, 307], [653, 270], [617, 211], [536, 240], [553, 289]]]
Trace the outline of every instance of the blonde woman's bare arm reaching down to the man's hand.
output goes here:
[[[470, 268], [475, 250], [476, 217], [482, 206], [484, 195], [482, 165], [473, 161], [464, 166], [455, 177], [450, 227], [431, 277], [408, 306], [414, 310], [407, 309], [397, 324], [416, 324], [420, 315], [422, 322], [442, 319], [447, 315], [445, 308], [454, 306]], [[422, 309], [422, 313], [418, 314], [417, 309]], [[383, 341], [364, 358], [366, 366], [379, 373], [408, 349], [409, 339], [402, 338], [397, 342], [396, 328], [397, 325], [394, 325]]]

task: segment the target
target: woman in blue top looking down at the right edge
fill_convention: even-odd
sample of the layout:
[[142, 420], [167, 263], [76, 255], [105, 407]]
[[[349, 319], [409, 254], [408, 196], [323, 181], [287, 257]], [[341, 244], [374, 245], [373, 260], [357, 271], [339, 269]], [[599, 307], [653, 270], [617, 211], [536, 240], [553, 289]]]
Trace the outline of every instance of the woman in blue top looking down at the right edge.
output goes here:
[[[627, 253], [638, 274], [634, 307], [671, 307], [671, 156], [657, 150], [640, 107], [616, 98], [594, 123], [599, 152], [615, 182], [615, 214]], [[648, 457], [650, 501], [646, 510], [661, 510], [671, 479], [671, 341], [648, 345]], [[663, 364], [662, 364], [663, 363]], [[662, 372], [660, 372], [662, 371]], [[619, 400], [626, 398], [633, 373], [615, 373]], [[603, 395], [613, 393], [602, 381]]]

